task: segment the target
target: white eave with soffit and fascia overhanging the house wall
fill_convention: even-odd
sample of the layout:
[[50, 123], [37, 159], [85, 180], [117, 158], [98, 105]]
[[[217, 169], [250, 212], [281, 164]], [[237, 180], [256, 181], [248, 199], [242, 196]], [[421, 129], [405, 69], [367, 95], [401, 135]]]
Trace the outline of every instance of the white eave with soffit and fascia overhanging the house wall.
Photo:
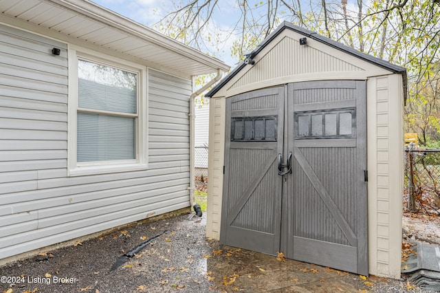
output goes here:
[[[169, 68], [181, 76], [228, 71], [217, 58], [203, 54], [140, 23], [87, 0], [0, 1], [1, 21], [21, 20], [35, 30], [87, 41], [106, 50]], [[8, 19], [10, 21], [8, 21]]]

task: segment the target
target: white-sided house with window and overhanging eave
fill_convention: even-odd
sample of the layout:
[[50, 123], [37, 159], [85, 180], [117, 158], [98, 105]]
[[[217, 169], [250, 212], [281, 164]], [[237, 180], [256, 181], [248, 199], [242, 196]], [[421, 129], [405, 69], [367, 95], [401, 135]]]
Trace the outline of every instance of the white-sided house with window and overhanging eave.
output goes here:
[[193, 80], [228, 70], [91, 1], [0, 1], [0, 260], [188, 210]]

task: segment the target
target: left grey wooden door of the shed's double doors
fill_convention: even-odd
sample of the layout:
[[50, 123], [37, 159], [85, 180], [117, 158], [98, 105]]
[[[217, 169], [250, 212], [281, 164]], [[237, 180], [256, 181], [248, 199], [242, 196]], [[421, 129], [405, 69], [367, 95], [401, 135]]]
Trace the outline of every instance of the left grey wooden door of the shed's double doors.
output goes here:
[[[280, 247], [284, 87], [227, 100], [221, 241], [274, 254]], [[281, 126], [281, 127], [280, 127]]]

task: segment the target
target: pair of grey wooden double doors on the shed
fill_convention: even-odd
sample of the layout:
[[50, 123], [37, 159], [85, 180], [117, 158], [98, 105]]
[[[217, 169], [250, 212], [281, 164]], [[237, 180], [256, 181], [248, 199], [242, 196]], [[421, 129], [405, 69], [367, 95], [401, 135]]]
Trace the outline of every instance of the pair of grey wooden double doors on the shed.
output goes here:
[[329, 80], [227, 100], [222, 243], [368, 274], [365, 96]]

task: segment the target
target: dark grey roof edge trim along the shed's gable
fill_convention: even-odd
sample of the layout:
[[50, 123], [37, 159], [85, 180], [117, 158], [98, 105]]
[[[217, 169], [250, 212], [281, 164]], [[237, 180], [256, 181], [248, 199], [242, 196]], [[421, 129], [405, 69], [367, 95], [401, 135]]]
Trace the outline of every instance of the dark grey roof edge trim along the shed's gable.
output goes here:
[[[298, 34], [302, 34], [303, 36], [307, 36], [310, 39], [314, 39], [316, 41], [320, 41], [321, 43], [324, 43], [325, 45], [329, 45], [330, 47], [336, 48], [337, 50], [340, 50], [342, 52], [345, 52], [347, 54], [351, 54], [355, 57], [361, 58], [364, 61], [367, 61], [369, 63], [373, 63], [374, 65], [377, 65], [378, 67], [382, 67], [384, 69], [389, 70], [393, 73], [398, 73], [402, 75], [403, 83], [404, 83], [404, 95], [406, 100], [406, 68], [391, 64], [387, 61], [384, 61], [380, 58], [376, 58], [374, 56], [371, 56], [369, 54], [365, 54], [362, 52], [359, 52], [358, 50], [353, 49], [352, 47], [349, 47], [347, 45], [344, 45], [342, 43], [339, 43], [337, 41], [333, 41], [332, 39], [327, 38], [326, 36], [321, 36], [320, 34], [317, 34], [316, 32], [312, 32], [311, 30], [306, 30], [305, 28], [300, 28], [297, 25], [293, 25], [292, 23], [289, 23], [287, 21], [283, 22], [272, 34], [267, 36], [266, 39], [264, 39], [255, 50], [250, 52], [248, 54], [249, 58], [254, 58], [261, 50], [263, 50], [264, 47], [266, 47], [273, 39], [278, 36], [278, 34], [281, 34], [283, 30], [292, 30], [294, 32], [297, 32]], [[220, 83], [218, 83], [215, 87], [213, 87], [206, 96], [212, 97], [214, 94], [217, 93], [224, 85], [226, 85], [236, 74], [238, 74], [243, 67], [245, 67], [246, 64], [244, 62], [241, 62], [239, 65], [237, 65], [228, 76], [225, 76], [223, 80], [221, 80]]]

